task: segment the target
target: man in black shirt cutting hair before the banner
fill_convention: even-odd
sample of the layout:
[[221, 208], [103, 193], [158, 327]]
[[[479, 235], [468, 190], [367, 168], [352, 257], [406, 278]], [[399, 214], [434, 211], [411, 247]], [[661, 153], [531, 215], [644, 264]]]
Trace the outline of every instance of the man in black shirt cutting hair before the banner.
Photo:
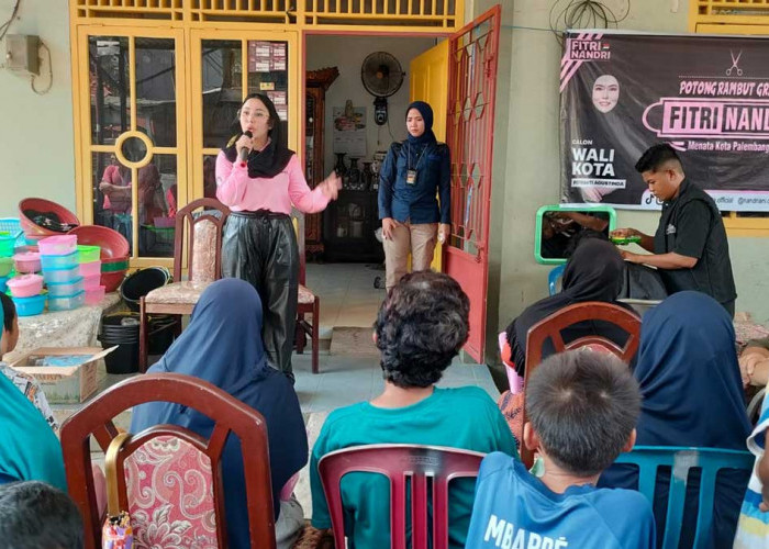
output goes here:
[[734, 317], [737, 292], [721, 212], [713, 199], [686, 179], [681, 160], [667, 144], [650, 147], [636, 163], [649, 191], [662, 201], [657, 233], [618, 228], [616, 236], [639, 236], [650, 251], [622, 250], [625, 260], [657, 267], [668, 293], [696, 290], [715, 299]]

